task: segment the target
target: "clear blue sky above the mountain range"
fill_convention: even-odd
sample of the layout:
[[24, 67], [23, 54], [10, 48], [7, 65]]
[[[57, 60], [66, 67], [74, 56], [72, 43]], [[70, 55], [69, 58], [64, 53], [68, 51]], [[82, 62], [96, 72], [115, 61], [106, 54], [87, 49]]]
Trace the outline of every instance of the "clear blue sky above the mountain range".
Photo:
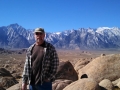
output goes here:
[[120, 27], [120, 0], [0, 0], [0, 27], [14, 23], [46, 32]]

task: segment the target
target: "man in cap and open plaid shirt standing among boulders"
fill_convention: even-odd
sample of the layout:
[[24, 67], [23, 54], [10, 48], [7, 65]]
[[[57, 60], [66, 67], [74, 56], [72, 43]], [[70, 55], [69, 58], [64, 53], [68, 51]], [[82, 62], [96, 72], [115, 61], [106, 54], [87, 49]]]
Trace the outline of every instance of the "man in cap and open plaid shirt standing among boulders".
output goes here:
[[22, 90], [27, 90], [28, 81], [30, 90], [52, 90], [52, 81], [59, 65], [57, 52], [52, 44], [44, 40], [43, 28], [36, 28], [34, 37], [36, 42], [26, 54]]

